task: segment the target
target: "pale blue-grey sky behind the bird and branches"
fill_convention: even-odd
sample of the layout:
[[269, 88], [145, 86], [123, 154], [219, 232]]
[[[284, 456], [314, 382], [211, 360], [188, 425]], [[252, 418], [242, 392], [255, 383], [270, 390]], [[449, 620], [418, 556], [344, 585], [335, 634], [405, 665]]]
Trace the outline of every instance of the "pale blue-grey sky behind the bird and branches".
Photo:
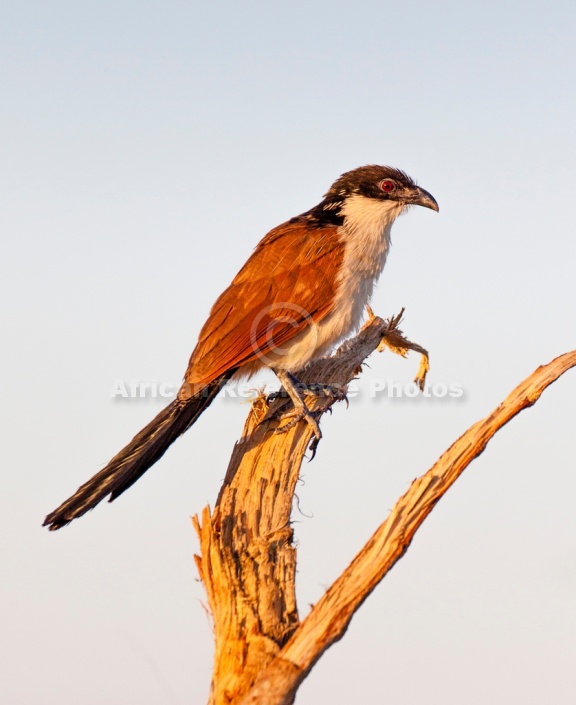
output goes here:
[[[370, 398], [418, 367], [384, 353], [324, 419], [302, 616], [414, 477], [576, 347], [575, 33], [568, 1], [4, 4], [2, 702], [206, 701], [190, 516], [246, 404], [214, 402], [117, 502], [41, 523], [164, 403], [115, 382], [178, 385], [254, 245], [342, 172], [398, 166], [438, 200], [394, 226], [373, 306], [406, 307], [430, 382], [464, 394]], [[490, 443], [298, 705], [574, 701], [575, 394], [572, 371]]]

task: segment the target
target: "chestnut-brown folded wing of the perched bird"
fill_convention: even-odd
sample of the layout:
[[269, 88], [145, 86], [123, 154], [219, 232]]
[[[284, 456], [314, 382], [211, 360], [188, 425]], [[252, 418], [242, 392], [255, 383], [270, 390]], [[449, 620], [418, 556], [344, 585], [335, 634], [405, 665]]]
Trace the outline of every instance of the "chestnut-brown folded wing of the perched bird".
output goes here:
[[186, 381], [209, 384], [321, 321], [333, 309], [342, 256], [337, 226], [292, 221], [271, 230], [212, 307]]

